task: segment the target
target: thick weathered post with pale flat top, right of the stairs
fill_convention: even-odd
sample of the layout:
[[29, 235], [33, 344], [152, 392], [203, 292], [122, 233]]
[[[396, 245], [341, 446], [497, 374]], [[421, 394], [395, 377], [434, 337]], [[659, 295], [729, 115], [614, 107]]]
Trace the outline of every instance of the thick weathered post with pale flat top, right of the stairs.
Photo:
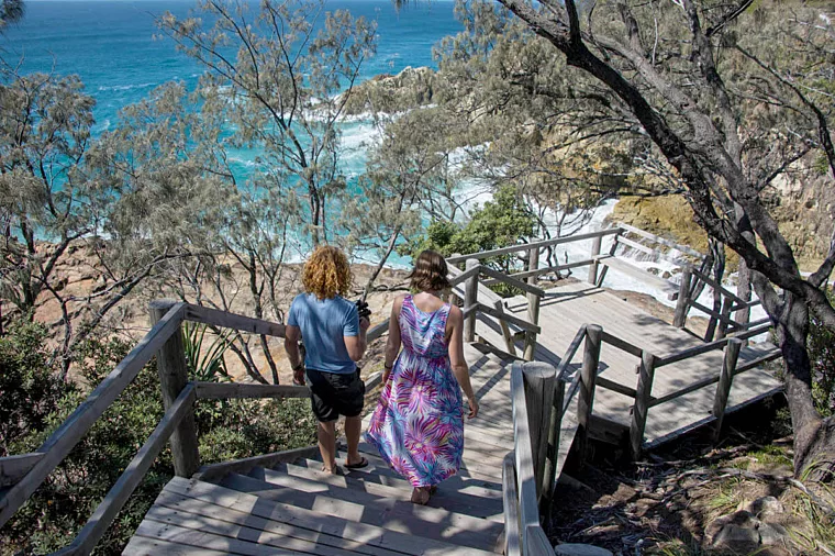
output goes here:
[[550, 415], [554, 409], [554, 387], [557, 369], [547, 363], [525, 363], [522, 365], [525, 385], [527, 424], [531, 431], [531, 447], [536, 477], [536, 499], [542, 500], [545, 478], [545, 462], [548, 456]]

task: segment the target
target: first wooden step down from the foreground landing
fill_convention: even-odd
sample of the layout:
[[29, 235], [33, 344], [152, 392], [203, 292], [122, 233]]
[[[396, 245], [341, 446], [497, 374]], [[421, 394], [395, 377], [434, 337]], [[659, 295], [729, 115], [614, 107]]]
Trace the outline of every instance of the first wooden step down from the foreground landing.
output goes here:
[[296, 486], [277, 487], [252, 477], [230, 474], [220, 485], [255, 494], [261, 500], [283, 502], [350, 521], [485, 551], [494, 546], [496, 540], [504, 530], [503, 524], [493, 521], [411, 502], [363, 497], [358, 496], [360, 492], [327, 485], [322, 485], [324, 489], [318, 492], [308, 492], [301, 490], [308, 486], [296, 480], [299, 482]]

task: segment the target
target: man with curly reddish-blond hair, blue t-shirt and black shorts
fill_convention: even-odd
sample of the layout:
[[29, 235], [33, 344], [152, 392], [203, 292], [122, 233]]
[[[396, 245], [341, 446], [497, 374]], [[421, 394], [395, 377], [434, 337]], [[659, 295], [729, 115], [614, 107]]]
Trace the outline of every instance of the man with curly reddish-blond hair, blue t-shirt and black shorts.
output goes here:
[[[344, 253], [324, 245], [313, 252], [302, 270], [305, 293], [293, 299], [285, 331], [285, 348], [293, 369], [293, 381], [310, 381], [310, 400], [319, 420], [322, 468], [336, 472], [336, 420], [345, 415], [348, 457], [345, 467], [368, 465], [359, 455], [360, 413], [365, 383], [356, 362], [363, 358], [369, 321], [360, 319], [357, 305], [346, 300], [350, 266]], [[299, 341], [304, 341], [304, 360]]]

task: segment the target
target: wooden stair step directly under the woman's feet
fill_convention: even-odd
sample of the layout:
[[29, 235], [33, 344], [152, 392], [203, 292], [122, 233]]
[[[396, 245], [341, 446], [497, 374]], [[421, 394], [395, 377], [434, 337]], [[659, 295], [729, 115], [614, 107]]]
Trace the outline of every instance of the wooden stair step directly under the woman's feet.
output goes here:
[[[318, 476], [302, 477], [298, 474], [291, 475], [283, 470], [264, 468], [253, 469], [247, 476], [276, 485], [277, 487], [294, 488], [304, 490], [305, 492], [322, 492], [324, 491], [323, 487], [330, 487], [326, 489], [330, 497], [358, 504], [366, 504], [377, 500], [396, 500], [398, 502], [412, 503], [411, 487], [398, 489], [374, 482], [365, 482], [352, 477], [316, 472], [311, 469], [304, 470]], [[442, 499], [441, 496], [434, 496], [426, 507], [439, 508], [448, 512], [461, 513], [472, 518], [503, 522], [503, 507], [501, 504], [497, 505], [496, 503], [491, 503], [493, 502], [491, 500], [477, 499], [476, 497], [467, 497], [468, 499], [465, 499], [465, 497], [454, 497], [454, 491], [448, 488], [444, 489], [443, 485], [438, 488], [438, 491], [441, 490], [446, 491], [446, 497]], [[446, 504], [443, 503], [444, 501]]]

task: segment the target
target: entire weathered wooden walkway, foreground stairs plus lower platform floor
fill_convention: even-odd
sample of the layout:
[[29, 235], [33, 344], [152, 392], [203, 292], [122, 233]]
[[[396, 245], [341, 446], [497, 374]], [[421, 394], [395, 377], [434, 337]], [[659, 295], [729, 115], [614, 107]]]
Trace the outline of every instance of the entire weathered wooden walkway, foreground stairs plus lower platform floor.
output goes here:
[[[486, 290], [486, 291], [483, 291]], [[492, 292], [479, 296], [494, 303]], [[494, 294], [492, 294], [494, 296]], [[525, 316], [524, 298], [504, 301], [510, 314]], [[477, 333], [499, 349], [504, 346], [493, 318], [479, 314]], [[584, 282], [564, 281], [548, 290], [539, 311], [542, 334], [536, 359], [558, 365], [582, 324], [600, 323], [609, 334], [658, 357], [703, 343], [611, 292]], [[521, 349], [521, 343], [517, 346]], [[772, 349], [767, 344], [743, 348], [741, 363]], [[480, 400], [478, 419], [465, 424], [464, 465], [444, 481], [427, 507], [412, 504], [410, 485], [392, 471], [374, 447], [360, 446], [370, 465], [321, 471], [321, 462], [298, 459], [272, 468], [255, 467], [216, 480], [172, 479], [157, 498], [126, 555], [486, 555], [501, 552], [504, 532], [502, 459], [512, 449], [510, 357], [481, 344], [466, 346], [474, 389]], [[521, 353], [521, 352], [519, 352]], [[582, 351], [569, 365], [580, 366]], [[716, 376], [722, 352], [660, 367], [652, 394], [656, 398]], [[634, 355], [603, 344], [600, 376], [627, 389], [637, 382]], [[569, 377], [570, 378], [570, 377]], [[781, 385], [769, 372], [752, 369], [734, 378], [727, 411], [771, 396]], [[646, 446], [657, 445], [710, 422], [715, 385], [649, 410]], [[593, 415], [627, 429], [634, 400], [597, 388]], [[367, 421], [365, 423], [367, 427]], [[577, 397], [561, 423], [557, 476], [577, 431]], [[339, 454], [345, 457], [344, 453]]]

